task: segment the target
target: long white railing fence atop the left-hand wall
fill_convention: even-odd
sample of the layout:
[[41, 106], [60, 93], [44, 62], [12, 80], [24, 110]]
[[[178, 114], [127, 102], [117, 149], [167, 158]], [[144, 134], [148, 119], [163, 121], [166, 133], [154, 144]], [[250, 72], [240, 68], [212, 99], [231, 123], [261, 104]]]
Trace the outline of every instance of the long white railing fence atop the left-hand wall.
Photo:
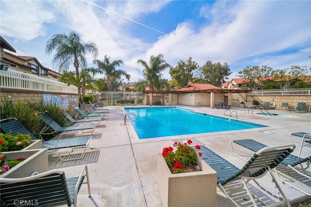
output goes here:
[[0, 70], [0, 87], [42, 92], [78, 93], [76, 86], [68, 86], [62, 82], [13, 69]]

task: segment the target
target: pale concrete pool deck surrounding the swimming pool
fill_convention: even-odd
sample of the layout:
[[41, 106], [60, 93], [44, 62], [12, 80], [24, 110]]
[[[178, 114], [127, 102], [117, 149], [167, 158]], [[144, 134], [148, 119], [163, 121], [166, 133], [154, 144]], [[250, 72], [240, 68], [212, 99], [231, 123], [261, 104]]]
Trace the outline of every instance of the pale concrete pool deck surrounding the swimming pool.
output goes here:
[[[128, 107], [128, 106], [126, 106]], [[129, 106], [130, 107], [130, 106]], [[135, 107], [135, 106], [133, 106]], [[161, 107], [161, 106], [154, 106]], [[224, 116], [226, 109], [211, 109], [209, 107], [185, 106], [198, 112]], [[214, 132], [187, 136], [166, 138], [138, 139], [130, 122], [124, 124], [124, 109], [122, 106], [107, 106], [100, 126], [94, 131], [94, 136], [82, 160], [60, 162], [55, 157], [49, 158], [51, 169], [63, 170], [67, 177], [78, 176], [83, 164], [88, 165], [92, 197], [88, 198], [86, 186], [82, 186], [78, 195], [78, 207], [162, 207], [157, 187], [156, 155], [164, 147], [172, 146], [175, 141], [191, 139], [193, 144], [203, 144], [215, 153], [221, 155], [237, 167], [241, 168], [245, 161], [231, 152], [230, 141], [233, 139], [252, 138], [266, 145], [290, 143], [289, 133], [310, 132], [311, 113], [293, 113], [283, 110], [269, 110], [273, 113], [291, 115], [293, 117], [267, 117], [249, 114], [247, 108], [230, 108], [236, 110], [238, 119], [269, 125], [269, 127], [249, 130]], [[254, 113], [260, 111], [255, 111]], [[236, 118], [231, 118], [236, 119]], [[191, 127], [185, 124], [185, 127]], [[299, 138], [297, 138], [299, 140]], [[253, 155], [247, 149], [237, 147], [241, 155]], [[311, 151], [303, 150], [301, 157], [310, 155]], [[298, 155], [298, 149], [292, 153]], [[269, 178], [269, 176], [267, 176]], [[271, 180], [262, 178], [263, 183]], [[268, 184], [269, 185], [269, 184]], [[306, 199], [301, 192], [281, 184], [286, 196], [293, 201]], [[311, 189], [311, 182], [301, 184], [303, 190]], [[256, 188], [256, 186], [255, 186]], [[195, 199], [195, 198], [189, 198]], [[217, 207], [233, 207], [234, 204], [217, 189]]]

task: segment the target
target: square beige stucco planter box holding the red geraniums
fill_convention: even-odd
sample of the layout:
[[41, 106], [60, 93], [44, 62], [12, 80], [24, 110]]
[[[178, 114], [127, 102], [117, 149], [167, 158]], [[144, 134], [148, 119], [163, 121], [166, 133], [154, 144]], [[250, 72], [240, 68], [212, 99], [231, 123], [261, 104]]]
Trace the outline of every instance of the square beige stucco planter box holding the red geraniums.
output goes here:
[[172, 174], [158, 154], [157, 184], [164, 207], [215, 207], [217, 173], [198, 157], [202, 171]]

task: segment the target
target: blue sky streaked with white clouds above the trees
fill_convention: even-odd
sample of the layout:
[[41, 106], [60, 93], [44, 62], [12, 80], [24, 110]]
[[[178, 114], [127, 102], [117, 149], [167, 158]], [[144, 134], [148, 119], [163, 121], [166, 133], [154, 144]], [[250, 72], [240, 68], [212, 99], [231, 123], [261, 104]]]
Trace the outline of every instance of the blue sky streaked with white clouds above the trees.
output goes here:
[[130, 82], [143, 79], [137, 60], [158, 54], [172, 67], [189, 57], [227, 63], [228, 80], [247, 66], [311, 68], [310, 0], [0, 0], [0, 10], [0, 35], [15, 54], [55, 71], [46, 43], [71, 31], [97, 45], [97, 59], [122, 60]]

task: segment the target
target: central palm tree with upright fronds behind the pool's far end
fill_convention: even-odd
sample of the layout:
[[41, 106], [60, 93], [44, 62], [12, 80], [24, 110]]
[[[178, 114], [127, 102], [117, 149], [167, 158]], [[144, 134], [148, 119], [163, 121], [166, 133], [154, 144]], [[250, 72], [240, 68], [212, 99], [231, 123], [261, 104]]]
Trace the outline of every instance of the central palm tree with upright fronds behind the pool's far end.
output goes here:
[[163, 86], [160, 85], [161, 72], [170, 67], [170, 64], [163, 59], [163, 54], [158, 54], [157, 56], [152, 55], [149, 64], [142, 59], [138, 59], [137, 63], [144, 67], [142, 73], [149, 84], [150, 90], [160, 89], [160, 86]]

